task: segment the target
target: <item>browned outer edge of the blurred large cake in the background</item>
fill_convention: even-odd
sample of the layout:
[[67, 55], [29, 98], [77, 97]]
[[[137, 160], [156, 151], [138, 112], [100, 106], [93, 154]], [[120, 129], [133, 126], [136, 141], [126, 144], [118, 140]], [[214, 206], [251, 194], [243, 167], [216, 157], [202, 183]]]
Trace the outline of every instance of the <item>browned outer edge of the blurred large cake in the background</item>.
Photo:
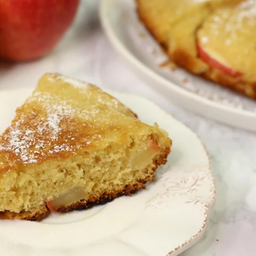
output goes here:
[[[138, 0], [136, 0], [139, 3]], [[141, 22], [144, 24], [146, 29], [153, 35], [153, 37], [158, 41], [163, 51], [169, 57], [170, 60], [174, 61], [177, 66], [191, 72], [202, 78], [214, 81], [220, 86], [229, 89], [231, 91], [243, 94], [247, 97], [256, 100], [256, 81], [249, 82], [244, 80], [239, 80], [238, 78], [232, 78], [227, 76], [221, 70], [209, 68], [206, 72], [198, 74], [198, 63], [195, 62], [195, 57], [191, 56], [189, 52], [186, 52], [184, 49], [177, 49], [174, 53], [169, 54], [168, 44], [161, 38], [157, 31], [154, 29], [153, 20], [147, 17], [147, 13], [144, 12], [143, 8], [140, 8], [140, 5], [137, 4], [137, 14]], [[203, 61], [203, 60], [201, 60]], [[205, 63], [207, 65], [207, 63]], [[208, 66], [208, 65], [207, 65]]]

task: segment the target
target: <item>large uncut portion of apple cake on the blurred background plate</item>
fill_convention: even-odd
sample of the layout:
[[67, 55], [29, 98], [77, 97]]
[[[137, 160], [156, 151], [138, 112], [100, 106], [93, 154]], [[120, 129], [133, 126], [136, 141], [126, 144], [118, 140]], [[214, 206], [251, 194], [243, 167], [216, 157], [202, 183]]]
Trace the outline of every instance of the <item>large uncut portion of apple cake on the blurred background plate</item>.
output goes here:
[[136, 1], [140, 19], [170, 60], [256, 99], [256, 1]]

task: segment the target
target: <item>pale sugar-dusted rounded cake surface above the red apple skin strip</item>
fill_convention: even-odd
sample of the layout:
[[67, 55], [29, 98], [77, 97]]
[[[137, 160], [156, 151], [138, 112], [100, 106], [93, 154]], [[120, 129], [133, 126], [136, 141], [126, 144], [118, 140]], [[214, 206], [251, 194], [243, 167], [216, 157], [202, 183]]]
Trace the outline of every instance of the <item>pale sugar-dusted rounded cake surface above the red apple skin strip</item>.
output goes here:
[[226, 67], [256, 81], [256, 1], [223, 5], [210, 15], [198, 32], [208, 55]]

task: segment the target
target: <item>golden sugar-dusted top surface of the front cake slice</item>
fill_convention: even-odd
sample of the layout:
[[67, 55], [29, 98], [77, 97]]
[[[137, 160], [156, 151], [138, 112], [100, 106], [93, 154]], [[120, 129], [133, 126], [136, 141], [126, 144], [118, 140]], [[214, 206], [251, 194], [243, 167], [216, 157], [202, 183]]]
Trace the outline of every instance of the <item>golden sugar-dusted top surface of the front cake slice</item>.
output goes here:
[[95, 86], [46, 74], [0, 136], [0, 173], [126, 143], [135, 131], [153, 127]]

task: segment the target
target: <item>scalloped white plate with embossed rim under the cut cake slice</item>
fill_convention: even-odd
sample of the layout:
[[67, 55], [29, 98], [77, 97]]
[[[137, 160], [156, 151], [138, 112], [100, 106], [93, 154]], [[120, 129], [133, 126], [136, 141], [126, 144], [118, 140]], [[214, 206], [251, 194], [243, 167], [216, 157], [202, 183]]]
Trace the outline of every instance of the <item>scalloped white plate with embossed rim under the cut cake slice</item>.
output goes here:
[[[159, 123], [173, 139], [173, 152], [157, 170], [156, 181], [133, 197], [52, 214], [40, 223], [1, 220], [0, 255], [174, 256], [202, 237], [216, 193], [201, 141], [147, 99], [110, 93], [142, 121]], [[0, 94], [0, 132], [30, 94], [31, 89]]]

